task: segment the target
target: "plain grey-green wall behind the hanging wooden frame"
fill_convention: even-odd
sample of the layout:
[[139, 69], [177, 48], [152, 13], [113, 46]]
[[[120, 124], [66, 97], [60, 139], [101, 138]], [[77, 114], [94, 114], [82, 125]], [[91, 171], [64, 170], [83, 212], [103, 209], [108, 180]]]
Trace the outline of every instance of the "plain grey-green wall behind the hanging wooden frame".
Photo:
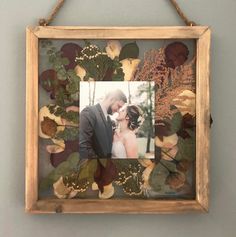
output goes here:
[[[41, 215], [24, 213], [25, 27], [56, 0], [0, 0], [0, 236], [233, 237], [235, 194], [235, 0], [178, 0], [213, 30], [209, 214]], [[180, 25], [165, 0], [67, 1], [56, 25]]]

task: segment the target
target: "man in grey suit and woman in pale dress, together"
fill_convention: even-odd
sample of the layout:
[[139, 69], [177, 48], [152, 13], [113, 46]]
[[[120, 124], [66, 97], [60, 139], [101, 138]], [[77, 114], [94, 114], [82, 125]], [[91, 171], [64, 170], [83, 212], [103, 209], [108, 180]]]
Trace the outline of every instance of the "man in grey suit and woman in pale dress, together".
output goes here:
[[[109, 92], [100, 103], [80, 113], [81, 159], [138, 158], [135, 131], [141, 123], [138, 106], [127, 105], [121, 90]], [[116, 121], [110, 115], [118, 113]]]

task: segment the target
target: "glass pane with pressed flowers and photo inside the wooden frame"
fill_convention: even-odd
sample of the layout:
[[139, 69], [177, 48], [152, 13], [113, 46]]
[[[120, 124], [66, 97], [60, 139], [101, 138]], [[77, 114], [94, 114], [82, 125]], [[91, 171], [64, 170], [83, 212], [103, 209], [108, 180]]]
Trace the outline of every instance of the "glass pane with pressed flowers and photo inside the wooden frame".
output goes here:
[[195, 40], [40, 40], [39, 198], [195, 199]]

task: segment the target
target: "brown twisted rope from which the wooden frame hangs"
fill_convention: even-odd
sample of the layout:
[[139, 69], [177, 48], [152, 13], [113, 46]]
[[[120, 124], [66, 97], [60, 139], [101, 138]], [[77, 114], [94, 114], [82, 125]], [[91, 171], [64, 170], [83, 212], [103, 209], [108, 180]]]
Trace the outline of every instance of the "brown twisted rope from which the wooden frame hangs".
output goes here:
[[[187, 18], [187, 16], [183, 13], [183, 11], [180, 9], [176, 0], [170, 0], [170, 2], [173, 5], [173, 7], [175, 8], [175, 10], [177, 11], [178, 15], [181, 17], [181, 19], [184, 21], [184, 23], [187, 26], [195, 26], [196, 25], [195, 22], [190, 21]], [[65, 0], [58, 0], [58, 3], [53, 8], [53, 10], [52, 10], [51, 14], [48, 16], [48, 18], [42, 18], [39, 20], [39, 25], [40, 26], [47, 26], [47, 25], [51, 24], [64, 3], [65, 3]]]

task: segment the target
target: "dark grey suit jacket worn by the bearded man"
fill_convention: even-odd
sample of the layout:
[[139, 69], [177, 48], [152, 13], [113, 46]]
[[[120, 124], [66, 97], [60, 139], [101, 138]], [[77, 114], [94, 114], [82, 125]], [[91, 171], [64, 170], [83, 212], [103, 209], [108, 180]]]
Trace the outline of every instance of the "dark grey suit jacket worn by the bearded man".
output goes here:
[[79, 134], [81, 159], [111, 158], [112, 124], [105, 118], [100, 104], [82, 110]]

